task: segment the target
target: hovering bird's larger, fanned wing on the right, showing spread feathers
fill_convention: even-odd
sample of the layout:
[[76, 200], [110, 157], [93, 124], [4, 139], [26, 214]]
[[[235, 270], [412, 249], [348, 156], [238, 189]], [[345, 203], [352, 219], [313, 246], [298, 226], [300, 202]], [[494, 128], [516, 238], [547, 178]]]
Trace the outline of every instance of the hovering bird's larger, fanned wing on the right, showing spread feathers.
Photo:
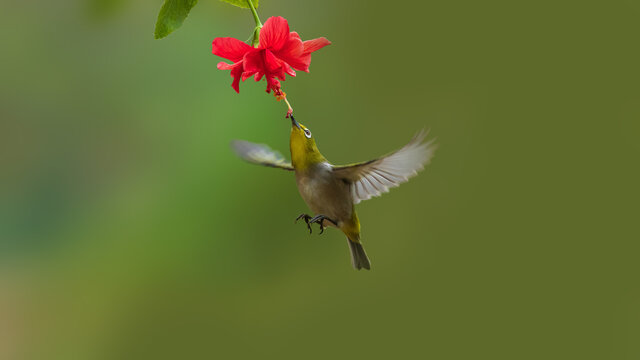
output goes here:
[[402, 149], [381, 158], [353, 165], [335, 166], [335, 174], [351, 184], [355, 204], [380, 196], [422, 170], [433, 157], [434, 140], [425, 142], [422, 130]]

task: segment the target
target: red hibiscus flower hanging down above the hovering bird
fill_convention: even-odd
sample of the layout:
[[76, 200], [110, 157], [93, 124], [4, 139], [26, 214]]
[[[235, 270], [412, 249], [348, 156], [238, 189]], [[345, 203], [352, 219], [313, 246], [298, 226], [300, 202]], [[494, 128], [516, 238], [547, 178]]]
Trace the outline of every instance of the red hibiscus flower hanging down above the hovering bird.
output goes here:
[[260, 45], [257, 48], [234, 38], [215, 38], [213, 54], [231, 60], [218, 63], [218, 69], [231, 70], [231, 87], [240, 92], [242, 81], [254, 76], [260, 81], [267, 79], [267, 92], [280, 92], [280, 81], [285, 74], [296, 76], [293, 69], [309, 72], [311, 53], [331, 42], [325, 38], [302, 41], [295, 31], [289, 32], [289, 24], [283, 17], [267, 19], [260, 30]]

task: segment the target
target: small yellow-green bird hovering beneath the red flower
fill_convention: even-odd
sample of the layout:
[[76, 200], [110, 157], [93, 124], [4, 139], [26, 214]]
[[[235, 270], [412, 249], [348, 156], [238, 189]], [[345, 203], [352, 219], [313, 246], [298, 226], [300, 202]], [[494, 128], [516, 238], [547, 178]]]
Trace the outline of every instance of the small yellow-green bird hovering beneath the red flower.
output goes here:
[[309, 232], [311, 224], [335, 227], [347, 237], [354, 269], [371, 269], [360, 239], [360, 220], [355, 205], [408, 181], [422, 170], [436, 150], [435, 139], [425, 141], [428, 132], [419, 131], [405, 146], [379, 158], [350, 165], [333, 165], [320, 153], [316, 140], [306, 126], [291, 118], [289, 147], [291, 162], [264, 144], [234, 140], [232, 149], [243, 160], [293, 171], [300, 196], [315, 216], [303, 213]]

